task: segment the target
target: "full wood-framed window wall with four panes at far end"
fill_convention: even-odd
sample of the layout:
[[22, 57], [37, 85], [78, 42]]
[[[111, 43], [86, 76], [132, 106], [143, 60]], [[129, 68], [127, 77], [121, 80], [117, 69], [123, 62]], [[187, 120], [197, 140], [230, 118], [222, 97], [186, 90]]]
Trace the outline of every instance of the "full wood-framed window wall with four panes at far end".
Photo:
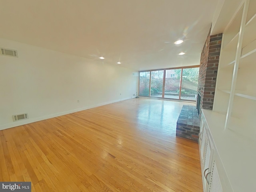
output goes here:
[[199, 66], [140, 71], [139, 96], [196, 101]]

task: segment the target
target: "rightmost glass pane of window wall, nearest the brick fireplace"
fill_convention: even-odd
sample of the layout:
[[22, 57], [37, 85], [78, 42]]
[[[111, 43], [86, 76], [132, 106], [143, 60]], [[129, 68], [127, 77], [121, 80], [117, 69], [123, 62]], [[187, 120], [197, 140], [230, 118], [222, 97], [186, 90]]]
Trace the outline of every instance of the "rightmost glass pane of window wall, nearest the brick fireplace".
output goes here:
[[196, 100], [198, 74], [199, 67], [183, 69], [181, 99]]

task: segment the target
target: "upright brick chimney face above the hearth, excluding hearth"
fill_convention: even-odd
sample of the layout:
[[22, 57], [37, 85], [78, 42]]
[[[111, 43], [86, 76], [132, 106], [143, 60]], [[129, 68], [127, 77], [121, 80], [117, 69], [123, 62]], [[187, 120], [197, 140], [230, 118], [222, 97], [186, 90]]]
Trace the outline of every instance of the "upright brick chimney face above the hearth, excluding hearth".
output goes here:
[[210, 31], [200, 59], [198, 78], [198, 94], [201, 96], [200, 118], [202, 108], [212, 110], [222, 40], [222, 33], [210, 36]]

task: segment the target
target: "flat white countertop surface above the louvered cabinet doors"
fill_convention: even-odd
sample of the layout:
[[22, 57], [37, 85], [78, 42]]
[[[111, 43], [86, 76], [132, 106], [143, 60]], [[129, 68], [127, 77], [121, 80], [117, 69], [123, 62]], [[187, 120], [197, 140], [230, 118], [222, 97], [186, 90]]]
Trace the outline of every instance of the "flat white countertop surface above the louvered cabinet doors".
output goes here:
[[[252, 191], [256, 179], [256, 142], [228, 128], [223, 129], [226, 115], [206, 109], [202, 112], [235, 192]], [[244, 122], [231, 118], [230, 126], [240, 129]]]

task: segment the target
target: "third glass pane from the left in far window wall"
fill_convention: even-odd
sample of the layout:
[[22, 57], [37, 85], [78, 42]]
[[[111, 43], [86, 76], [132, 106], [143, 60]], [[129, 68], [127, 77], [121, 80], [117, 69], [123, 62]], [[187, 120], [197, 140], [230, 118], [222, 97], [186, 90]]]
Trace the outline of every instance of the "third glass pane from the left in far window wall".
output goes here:
[[181, 69], [166, 70], [164, 98], [179, 99]]

